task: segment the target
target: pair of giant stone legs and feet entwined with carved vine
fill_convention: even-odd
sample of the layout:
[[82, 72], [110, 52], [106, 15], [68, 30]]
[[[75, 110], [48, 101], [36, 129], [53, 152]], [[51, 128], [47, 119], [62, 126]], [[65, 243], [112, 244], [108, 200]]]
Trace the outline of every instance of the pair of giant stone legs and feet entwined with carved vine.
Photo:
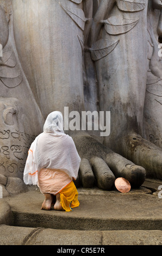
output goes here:
[[148, 1], [12, 4], [18, 58], [43, 117], [65, 106], [80, 114], [111, 111], [111, 132], [102, 143], [85, 131], [68, 131], [82, 158], [82, 185], [96, 181], [110, 190], [119, 176], [132, 187], [146, 172], [161, 178], [161, 149], [142, 138]]

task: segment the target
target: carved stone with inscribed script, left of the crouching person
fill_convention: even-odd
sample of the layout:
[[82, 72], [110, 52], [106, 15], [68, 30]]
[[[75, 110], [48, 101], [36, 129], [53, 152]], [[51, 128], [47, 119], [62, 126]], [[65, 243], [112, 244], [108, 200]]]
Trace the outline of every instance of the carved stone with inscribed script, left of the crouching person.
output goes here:
[[17, 57], [11, 1], [0, 4], [0, 185], [4, 197], [26, 190], [22, 182], [24, 164], [31, 142], [41, 131], [43, 117]]

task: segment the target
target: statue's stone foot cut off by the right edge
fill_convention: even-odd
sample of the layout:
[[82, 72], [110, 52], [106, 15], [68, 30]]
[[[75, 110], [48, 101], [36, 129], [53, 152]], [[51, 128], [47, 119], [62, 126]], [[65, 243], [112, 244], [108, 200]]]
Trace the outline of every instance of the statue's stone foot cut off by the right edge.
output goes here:
[[119, 153], [146, 169], [147, 178], [162, 179], [162, 149], [136, 133], [123, 136]]

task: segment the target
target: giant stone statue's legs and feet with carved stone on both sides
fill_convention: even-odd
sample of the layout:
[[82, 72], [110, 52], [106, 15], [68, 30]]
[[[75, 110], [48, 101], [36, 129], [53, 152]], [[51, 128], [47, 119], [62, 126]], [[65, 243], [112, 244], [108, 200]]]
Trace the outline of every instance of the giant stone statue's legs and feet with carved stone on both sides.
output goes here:
[[[68, 130], [78, 182], [162, 179], [160, 0], [1, 0], [0, 184], [24, 190], [27, 151], [55, 110], [111, 112], [110, 135]], [[80, 120], [82, 121], [82, 120]], [[106, 120], [105, 120], [106, 121]]]

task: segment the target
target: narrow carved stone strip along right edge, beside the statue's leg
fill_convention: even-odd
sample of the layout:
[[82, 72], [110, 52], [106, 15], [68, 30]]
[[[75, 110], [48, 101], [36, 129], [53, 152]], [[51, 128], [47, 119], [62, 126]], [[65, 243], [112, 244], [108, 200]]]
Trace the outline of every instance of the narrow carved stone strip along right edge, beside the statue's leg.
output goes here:
[[[161, 117], [161, 89], [162, 65], [161, 43], [162, 35], [162, 4], [149, 2], [147, 14], [148, 34], [148, 71], [144, 109], [144, 136], [148, 141], [162, 148], [162, 117]], [[158, 42], [159, 40], [159, 42]]]

